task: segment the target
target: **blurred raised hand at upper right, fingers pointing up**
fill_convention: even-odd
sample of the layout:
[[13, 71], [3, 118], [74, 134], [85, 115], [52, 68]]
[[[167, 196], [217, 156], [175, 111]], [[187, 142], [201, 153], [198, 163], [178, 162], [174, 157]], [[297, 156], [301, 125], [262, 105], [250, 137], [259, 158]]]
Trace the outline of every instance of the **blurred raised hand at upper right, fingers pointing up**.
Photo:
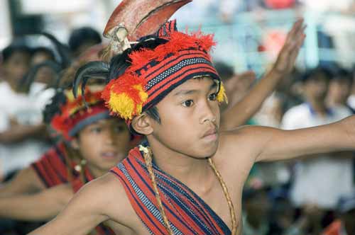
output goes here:
[[278, 53], [278, 59], [276, 59], [273, 67], [274, 71], [279, 74], [288, 74], [292, 71], [300, 47], [305, 40], [305, 28], [302, 18], [293, 24], [293, 28], [288, 32], [285, 44]]

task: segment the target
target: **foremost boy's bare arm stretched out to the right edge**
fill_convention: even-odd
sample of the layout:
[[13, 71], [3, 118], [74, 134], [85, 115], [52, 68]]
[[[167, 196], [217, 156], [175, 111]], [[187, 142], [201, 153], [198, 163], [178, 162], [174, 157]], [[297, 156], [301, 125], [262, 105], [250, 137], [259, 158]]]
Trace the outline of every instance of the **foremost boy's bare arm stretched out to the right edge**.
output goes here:
[[[232, 139], [246, 139], [244, 147], [253, 149], [251, 161], [276, 161], [297, 156], [355, 149], [355, 116], [339, 122], [299, 130], [271, 127], [242, 127]], [[249, 139], [249, 140], [248, 140]], [[237, 144], [235, 144], [237, 145]], [[237, 152], [237, 146], [231, 147]], [[236, 159], [238, 161], [238, 159]]]

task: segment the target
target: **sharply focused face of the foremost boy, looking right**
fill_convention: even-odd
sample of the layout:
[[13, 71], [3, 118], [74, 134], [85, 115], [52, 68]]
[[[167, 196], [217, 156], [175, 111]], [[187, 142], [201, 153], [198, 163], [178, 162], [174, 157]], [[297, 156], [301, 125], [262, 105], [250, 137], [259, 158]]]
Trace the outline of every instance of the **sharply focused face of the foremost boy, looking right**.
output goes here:
[[219, 139], [217, 84], [209, 77], [185, 81], [156, 107], [153, 137], [168, 149], [195, 158], [212, 156]]

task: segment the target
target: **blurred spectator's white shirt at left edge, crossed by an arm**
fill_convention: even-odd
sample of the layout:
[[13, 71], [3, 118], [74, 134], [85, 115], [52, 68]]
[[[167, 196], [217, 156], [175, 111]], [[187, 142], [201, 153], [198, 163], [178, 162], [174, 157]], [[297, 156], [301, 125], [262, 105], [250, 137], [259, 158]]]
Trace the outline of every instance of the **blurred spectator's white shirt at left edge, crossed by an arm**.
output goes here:
[[[16, 93], [9, 84], [1, 82], [0, 132], [10, 128], [11, 119], [21, 125], [40, 124], [45, 105], [45, 101], [41, 101], [41, 98], [41, 96]], [[0, 144], [0, 176], [6, 176], [13, 170], [28, 166], [37, 160], [46, 148], [45, 144], [35, 139], [26, 139], [18, 144]]]

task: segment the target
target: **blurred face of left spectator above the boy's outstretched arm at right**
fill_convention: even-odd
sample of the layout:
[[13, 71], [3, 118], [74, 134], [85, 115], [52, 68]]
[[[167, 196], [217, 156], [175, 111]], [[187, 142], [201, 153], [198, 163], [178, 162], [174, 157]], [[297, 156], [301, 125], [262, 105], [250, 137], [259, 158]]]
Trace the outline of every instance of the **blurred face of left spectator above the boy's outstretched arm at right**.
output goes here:
[[307, 98], [324, 100], [327, 95], [329, 81], [324, 74], [314, 74], [305, 81], [304, 88]]

